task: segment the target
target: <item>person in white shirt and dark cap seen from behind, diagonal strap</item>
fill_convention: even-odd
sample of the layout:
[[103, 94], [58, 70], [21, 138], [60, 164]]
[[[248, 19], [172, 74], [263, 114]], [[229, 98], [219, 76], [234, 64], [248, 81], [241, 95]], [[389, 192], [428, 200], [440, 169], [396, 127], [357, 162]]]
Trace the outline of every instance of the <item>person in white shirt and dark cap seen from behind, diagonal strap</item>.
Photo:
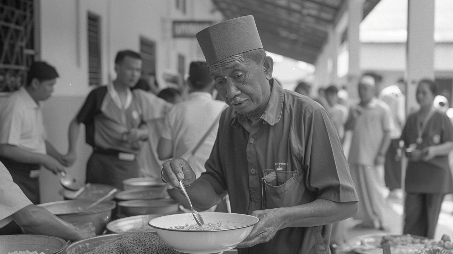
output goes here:
[[[161, 160], [184, 158], [198, 178], [206, 171], [204, 164], [214, 146], [218, 118], [226, 103], [212, 98], [215, 85], [206, 62], [190, 63], [189, 75], [187, 82], [191, 92], [187, 100], [174, 105], [165, 117], [158, 153]], [[178, 191], [169, 191], [169, 194], [189, 208], [186, 198]]]

